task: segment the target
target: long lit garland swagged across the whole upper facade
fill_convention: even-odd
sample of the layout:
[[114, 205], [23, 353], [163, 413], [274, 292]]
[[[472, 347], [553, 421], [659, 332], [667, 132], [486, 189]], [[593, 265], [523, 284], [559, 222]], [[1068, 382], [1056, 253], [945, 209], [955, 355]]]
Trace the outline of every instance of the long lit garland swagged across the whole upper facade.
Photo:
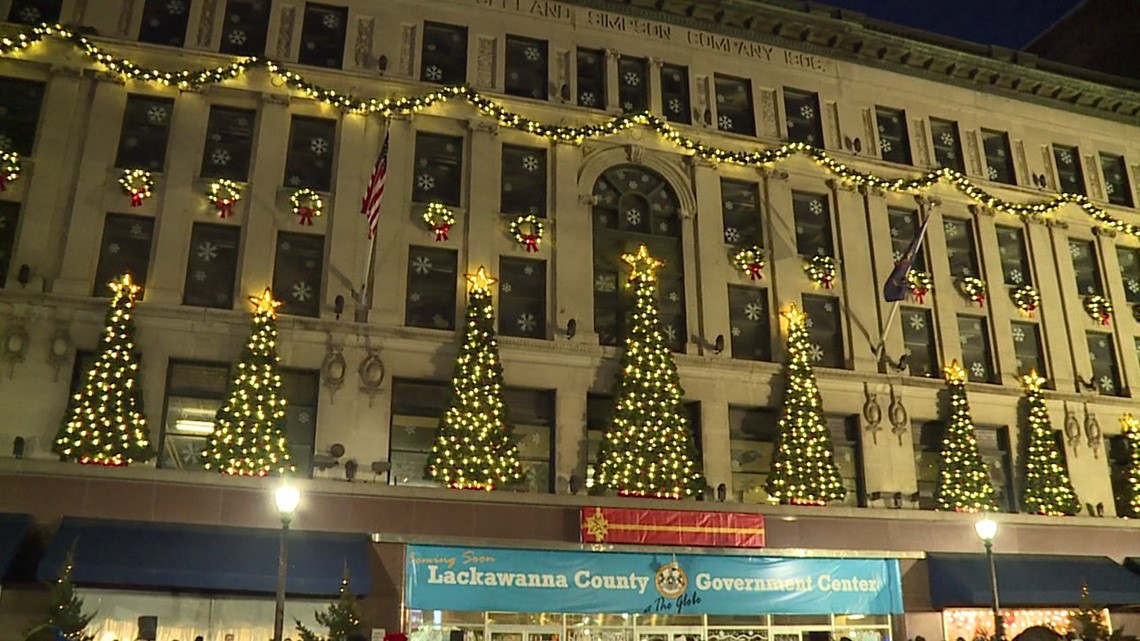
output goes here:
[[1098, 227], [1140, 237], [1140, 225], [1133, 225], [1114, 218], [1083, 194], [1060, 193], [1040, 201], [1015, 203], [990, 194], [959, 171], [950, 168], [939, 168], [913, 178], [882, 178], [847, 167], [847, 164], [836, 160], [823, 149], [805, 143], [788, 143], [776, 148], [763, 151], [724, 149], [706, 145], [681, 133], [666, 120], [650, 112], [628, 113], [601, 123], [572, 127], [546, 124], [529, 119], [507, 109], [498, 102], [482, 96], [470, 87], [442, 87], [422, 96], [401, 98], [357, 97], [335, 89], [320, 87], [307, 81], [300, 73], [287, 68], [280, 63], [256, 57], [238, 58], [228, 65], [203, 70], [172, 72], [144, 68], [129, 59], [109, 54], [84, 35], [60, 25], [48, 24], [41, 24], [27, 32], [0, 39], [0, 56], [10, 56], [23, 51], [46, 38], [72, 44], [92, 62], [103, 65], [108, 71], [124, 79], [155, 82], [162, 86], [177, 87], [181, 90], [193, 89], [203, 84], [226, 82], [247, 73], [250, 70], [264, 68], [290, 89], [349, 113], [382, 114], [385, 117], [390, 117], [396, 114], [420, 112], [439, 103], [461, 98], [470, 103], [480, 113], [494, 117], [500, 127], [560, 141], [581, 143], [587, 138], [613, 136], [634, 127], [648, 127], [653, 129], [668, 143], [709, 161], [764, 167], [781, 162], [792, 155], [805, 155], [812, 159], [819, 167], [853, 187], [865, 187], [885, 192], [918, 192], [944, 181], [975, 203], [993, 211], [1009, 213], [1019, 218], [1041, 218], [1054, 213], [1065, 205], [1072, 204], [1096, 221]]

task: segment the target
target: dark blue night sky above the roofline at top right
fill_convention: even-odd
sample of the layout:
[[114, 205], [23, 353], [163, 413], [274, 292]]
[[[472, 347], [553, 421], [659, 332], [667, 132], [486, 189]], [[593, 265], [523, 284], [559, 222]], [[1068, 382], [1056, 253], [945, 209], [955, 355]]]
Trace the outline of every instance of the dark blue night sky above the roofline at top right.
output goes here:
[[1021, 49], [1081, 0], [823, 0], [868, 17]]

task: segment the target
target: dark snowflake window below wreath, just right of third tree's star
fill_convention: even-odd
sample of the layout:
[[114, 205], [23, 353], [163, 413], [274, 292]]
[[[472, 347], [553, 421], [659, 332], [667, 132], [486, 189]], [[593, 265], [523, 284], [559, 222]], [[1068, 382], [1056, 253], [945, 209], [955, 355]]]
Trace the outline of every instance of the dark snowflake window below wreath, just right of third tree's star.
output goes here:
[[499, 259], [499, 334], [546, 338], [546, 261]]

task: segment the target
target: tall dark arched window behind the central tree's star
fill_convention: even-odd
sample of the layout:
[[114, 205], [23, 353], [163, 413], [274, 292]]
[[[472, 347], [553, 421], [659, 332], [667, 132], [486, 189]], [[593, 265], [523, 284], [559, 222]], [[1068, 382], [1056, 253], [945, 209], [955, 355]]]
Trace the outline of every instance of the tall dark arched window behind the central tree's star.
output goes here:
[[685, 346], [684, 260], [677, 194], [658, 173], [632, 164], [602, 173], [594, 184], [594, 330], [602, 344], [625, 335], [633, 291], [621, 254], [645, 244], [665, 261], [658, 270], [661, 331], [674, 351]]

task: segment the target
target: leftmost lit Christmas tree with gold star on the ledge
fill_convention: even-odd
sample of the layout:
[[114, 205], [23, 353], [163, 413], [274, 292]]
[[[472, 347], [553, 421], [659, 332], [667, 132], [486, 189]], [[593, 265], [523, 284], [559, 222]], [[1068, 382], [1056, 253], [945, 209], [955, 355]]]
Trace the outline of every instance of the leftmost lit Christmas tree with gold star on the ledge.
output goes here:
[[139, 287], [123, 274], [111, 284], [112, 299], [104, 323], [99, 355], [72, 398], [67, 420], [51, 446], [66, 461], [129, 465], [154, 455], [142, 415], [139, 362], [131, 318]]

